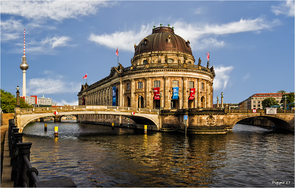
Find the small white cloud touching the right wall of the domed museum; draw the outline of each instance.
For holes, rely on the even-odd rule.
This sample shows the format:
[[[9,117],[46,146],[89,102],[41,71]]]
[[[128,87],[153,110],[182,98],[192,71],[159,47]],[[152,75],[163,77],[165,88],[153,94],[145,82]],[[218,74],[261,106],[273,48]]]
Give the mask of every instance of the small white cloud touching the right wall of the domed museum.
[[[230,72],[234,69],[234,67],[229,66],[229,67],[222,67],[218,66],[217,68],[214,67],[215,71],[215,78],[213,80],[213,87],[214,89],[220,89],[223,86],[223,90],[225,89],[227,82],[230,79]]]

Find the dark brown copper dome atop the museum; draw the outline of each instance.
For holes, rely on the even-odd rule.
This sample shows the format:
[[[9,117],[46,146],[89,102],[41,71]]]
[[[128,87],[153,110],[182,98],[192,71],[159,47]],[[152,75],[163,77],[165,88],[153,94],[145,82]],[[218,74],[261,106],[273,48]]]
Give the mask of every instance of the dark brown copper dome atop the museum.
[[[170,42],[168,42],[169,38],[171,38]],[[142,39],[135,48],[134,56],[152,51],[176,51],[192,55],[189,41],[186,42],[182,37],[174,34],[174,29],[170,27],[154,28],[152,34]]]

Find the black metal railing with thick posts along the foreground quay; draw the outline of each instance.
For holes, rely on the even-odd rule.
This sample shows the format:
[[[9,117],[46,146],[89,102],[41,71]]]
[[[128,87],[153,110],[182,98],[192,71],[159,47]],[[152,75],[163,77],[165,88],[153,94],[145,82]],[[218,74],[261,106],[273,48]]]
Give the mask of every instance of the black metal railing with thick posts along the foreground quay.
[[[14,119],[9,120],[8,143],[9,156],[11,157],[10,166],[11,181],[13,187],[77,187],[70,178],[62,178],[48,181],[40,181],[38,170],[30,163],[31,142],[22,142],[24,133],[19,133]]]

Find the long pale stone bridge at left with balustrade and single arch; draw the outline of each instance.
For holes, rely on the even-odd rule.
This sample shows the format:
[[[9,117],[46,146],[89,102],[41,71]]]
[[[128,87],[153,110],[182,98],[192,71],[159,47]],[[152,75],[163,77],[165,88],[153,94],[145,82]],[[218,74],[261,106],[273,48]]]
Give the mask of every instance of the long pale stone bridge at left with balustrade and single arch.
[[[55,115],[54,112],[58,114]],[[159,110],[147,108],[130,108],[121,106],[60,106],[44,108],[15,108],[17,128],[22,132],[24,127],[38,118],[53,116],[60,119],[65,115],[102,114],[124,116],[132,119],[137,124],[155,125],[160,130]],[[131,113],[135,114],[132,115]]]

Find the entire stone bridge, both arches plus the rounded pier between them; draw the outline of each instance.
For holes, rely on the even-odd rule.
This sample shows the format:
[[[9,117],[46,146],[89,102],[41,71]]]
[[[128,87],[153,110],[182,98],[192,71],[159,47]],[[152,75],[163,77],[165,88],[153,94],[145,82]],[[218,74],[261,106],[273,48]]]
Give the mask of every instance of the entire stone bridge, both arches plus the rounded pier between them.
[[[55,115],[54,112],[58,114]],[[16,125],[22,132],[24,127],[38,118],[53,116],[59,119],[65,115],[101,114],[124,116],[137,125],[155,125],[158,131],[184,130],[183,115],[188,115],[186,127],[191,133],[226,133],[240,120],[250,117],[264,117],[272,121],[277,128],[294,131],[294,110],[279,110],[277,114],[266,114],[265,109],[226,110],[220,108],[188,108],[178,110],[154,110],[120,106],[61,106],[44,108],[16,108]],[[132,112],[135,114],[132,115]],[[137,126],[140,128],[141,126]],[[154,126],[153,126],[154,127]],[[218,131],[214,132],[212,130]],[[153,129],[155,130],[155,129]],[[205,131],[204,131],[205,130]],[[221,130],[221,131],[220,131]]]

